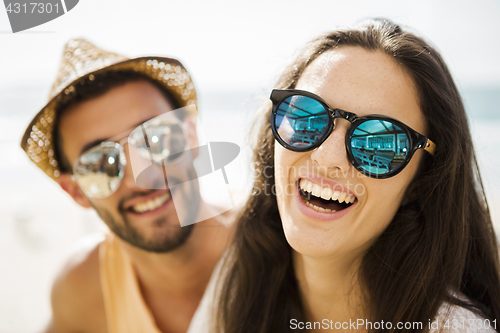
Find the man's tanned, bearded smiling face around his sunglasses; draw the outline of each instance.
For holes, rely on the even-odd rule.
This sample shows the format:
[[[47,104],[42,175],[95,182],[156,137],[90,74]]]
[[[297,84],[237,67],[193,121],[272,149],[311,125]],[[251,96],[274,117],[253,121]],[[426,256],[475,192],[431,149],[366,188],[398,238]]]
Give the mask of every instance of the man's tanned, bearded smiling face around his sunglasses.
[[[174,112],[169,112],[172,110],[153,84],[145,80],[126,83],[78,103],[61,115],[62,150],[73,165],[92,143],[117,136],[166,112],[164,117],[175,117]],[[116,192],[103,199],[83,197],[83,200],[128,243],[147,251],[171,251],[186,241],[194,225],[180,227],[169,189],[148,190],[136,185],[129,147],[124,146],[129,162]],[[75,188],[75,191],[81,190]]]

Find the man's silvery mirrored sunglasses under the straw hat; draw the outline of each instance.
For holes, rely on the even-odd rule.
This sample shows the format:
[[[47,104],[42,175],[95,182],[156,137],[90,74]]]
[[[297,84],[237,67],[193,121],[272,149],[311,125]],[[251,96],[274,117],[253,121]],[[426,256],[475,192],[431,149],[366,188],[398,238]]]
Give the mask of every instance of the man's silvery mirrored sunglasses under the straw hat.
[[[73,179],[87,196],[105,198],[118,189],[127,165],[123,148],[127,142],[129,156],[130,150],[135,149],[137,158],[159,164],[175,163],[188,147],[183,123],[164,116],[106,140],[85,151],[73,166]]]

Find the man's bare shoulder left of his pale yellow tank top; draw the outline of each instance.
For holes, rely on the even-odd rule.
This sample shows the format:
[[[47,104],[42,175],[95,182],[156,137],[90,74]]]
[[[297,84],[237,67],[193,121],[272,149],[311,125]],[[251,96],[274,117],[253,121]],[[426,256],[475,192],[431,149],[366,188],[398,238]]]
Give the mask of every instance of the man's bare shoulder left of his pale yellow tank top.
[[[48,332],[106,332],[99,278],[103,237],[79,242],[52,287],[52,322]]]

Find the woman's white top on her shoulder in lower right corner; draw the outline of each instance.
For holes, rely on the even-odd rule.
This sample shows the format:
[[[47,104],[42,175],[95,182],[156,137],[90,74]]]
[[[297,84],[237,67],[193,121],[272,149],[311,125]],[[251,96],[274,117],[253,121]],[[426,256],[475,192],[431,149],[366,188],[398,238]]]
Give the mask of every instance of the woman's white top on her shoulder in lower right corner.
[[[495,327],[498,325],[469,309],[449,303],[439,308],[433,323],[435,325],[430,333],[496,333]]]

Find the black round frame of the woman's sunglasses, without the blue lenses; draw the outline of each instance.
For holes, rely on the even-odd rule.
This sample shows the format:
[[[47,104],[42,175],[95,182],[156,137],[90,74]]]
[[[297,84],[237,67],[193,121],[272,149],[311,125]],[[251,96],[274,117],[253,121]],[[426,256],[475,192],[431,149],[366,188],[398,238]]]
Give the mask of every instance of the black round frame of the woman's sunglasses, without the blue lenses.
[[[300,147],[298,148],[298,147],[293,147],[293,146],[289,145],[280,137],[280,135],[278,134],[278,130],[276,128],[275,119],[276,119],[276,115],[278,113],[278,108],[285,99],[287,99],[288,97],[291,97],[291,96],[305,96],[305,97],[312,98],[315,101],[319,102],[325,108],[325,111],[328,111],[327,113],[330,115],[330,117],[328,117],[328,125],[327,125],[328,128],[327,128],[326,132],[323,134],[323,137],[321,138],[321,140],[318,140],[318,142],[316,142],[313,145],[306,147],[306,148],[300,148]],[[413,154],[415,153],[415,151],[417,151],[417,149],[423,148],[425,151],[429,152],[431,155],[434,155],[434,153],[435,153],[436,145],[429,138],[418,133],[417,131],[412,129],[410,126],[400,122],[399,120],[385,116],[385,115],[371,114],[371,115],[359,117],[355,113],[345,111],[342,109],[338,109],[338,108],[332,108],[330,105],[328,105],[328,103],[325,100],[323,100],[318,95],[315,95],[309,91],[298,90],[298,89],[273,89],[273,91],[271,92],[270,99],[273,103],[272,112],[271,112],[271,129],[273,131],[274,138],[284,148],[291,150],[291,151],[308,152],[308,151],[311,151],[311,150],[318,148],[319,146],[321,146],[323,144],[323,142],[326,141],[326,139],[328,139],[330,134],[335,129],[334,120],[336,118],[345,119],[345,120],[349,121],[351,123],[351,126],[347,130],[346,137],[345,137],[345,147],[346,147],[347,157],[348,157],[349,161],[351,162],[352,166],[356,170],[361,172],[363,175],[371,177],[371,178],[385,179],[385,178],[390,178],[390,177],[397,175],[406,167],[406,165],[408,165],[411,158],[413,157]],[[356,162],[356,160],[354,158],[354,154],[352,153],[351,144],[350,144],[351,139],[352,139],[352,134],[356,130],[356,128],[358,128],[359,125],[361,125],[362,123],[364,123],[365,121],[368,121],[368,120],[382,120],[382,121],[391,122],[392,124],[401,128],[405,132],[406,136],[408,137],[410,150],[407,153],[403,163],[401,163],[397,169],[389,171],[385,174],[375,174],[375,173],[366,171],[358,162]]]

